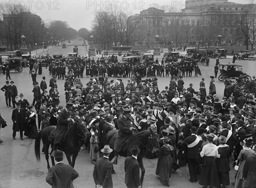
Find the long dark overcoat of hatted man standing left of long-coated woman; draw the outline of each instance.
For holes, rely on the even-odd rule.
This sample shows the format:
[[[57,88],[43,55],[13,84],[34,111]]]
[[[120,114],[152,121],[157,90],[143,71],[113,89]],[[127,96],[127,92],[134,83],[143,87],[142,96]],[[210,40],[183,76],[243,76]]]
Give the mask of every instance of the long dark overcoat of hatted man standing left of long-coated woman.
[[[20,130],[25,131],[24,123],[26,118],[26,111],[23,108],[20,108],[20,113],[18,109],[12,111],[12,130],[19,132]],[[16,121],[16,123],[15,123]]]

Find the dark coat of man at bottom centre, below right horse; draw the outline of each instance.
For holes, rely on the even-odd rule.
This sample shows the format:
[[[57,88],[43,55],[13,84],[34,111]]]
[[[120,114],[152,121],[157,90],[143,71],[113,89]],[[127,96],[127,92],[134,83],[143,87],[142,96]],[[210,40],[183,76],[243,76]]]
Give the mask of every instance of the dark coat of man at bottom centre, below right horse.
[[[125,159],[125,184],[131,188],[140,186],[140,165],[132,156]]]

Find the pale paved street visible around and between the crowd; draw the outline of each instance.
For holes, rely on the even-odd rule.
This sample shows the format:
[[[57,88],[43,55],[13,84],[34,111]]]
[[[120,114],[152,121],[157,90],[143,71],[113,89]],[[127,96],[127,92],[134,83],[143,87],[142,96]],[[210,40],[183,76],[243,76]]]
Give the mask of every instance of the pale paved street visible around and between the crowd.
[[[73,47],[78,45],[79,55],[85,56],[85,50],[81,46],[82,41],[75,40],[71,41],[71,43],[66,43],[67,48],[62,49],[61,44],[56,48],[48,51],[50,56],[52,53],[60,52],[65,57],[67,53],[73,52]],[[42,54],[47,54],[47,51],[44,51]],[[100,56],[99,56],[100,57]],[[98,58],[98,57],[96,57]],[[121,58],[121,57],[119,57]],[[156,57],[155,57],[156,58]],[[158,57],[158,59],[162,59],[162,57]],[[221,59],[220,63],[232,63],[232,59]],[[251,76],[256,74],[256,62],[248,61],[248,60],[237,60],[237,64],[243,65],[244,71],[247,71]],[[193,88],[195,91],[199,89],[199,82],[201,78],[205,78],[207,93],[209,92],[209,81],[210,76],[214,75],[214,66],[215,59],[210,59],[209,67],[200,66],[202,76],[201,77],[184,77],[185,85],[184,87],[189,87],[189,83],[194,84]],[[66,69],[67,70],[67,69]],[[194,71],[193,74],[194,75]],[[41,78],[45,76],[46,82],[49,86],[49,71],[48,68],[45,69],[43,67],[43,74],[38,75],[37,81],[41,82]],[[33,93],[32,93],[32,78],[29,75],[29,68],[23,69],[23,72],[20,74],[16,74],[13,71],[11,72],[11,78],[15,82],[14,84],[17,86],[18,94],[23,93],[24,98],[26,98],[29,103],[32,103]],[[82,83],[85,85],[90,78],[81,78]],[[145,79],[145,78],[144,78]],[[3,87],[6,81],[6,75],[0,75],[0,87]],[[109,79],[111,80],[111,79]],[[116,80],[116,79],[114,79]],[[128,78],[123,78],[123,83],[127,83]],[[158,77],[158,87],[159,90],[163,90],[165,86],[169,86],[169,77]],[[64,96],[64,80],[57,80],[58,91],[60,92],[60,105],[65,105],[65,96]],[[223,91],[224,91],[224,83],[218,81],[218,78],[215,79],[216,91],[218,96],[222,99]],[[47,88],[49,91],[49,88]],[[18,99],[17,99],[18,100]],[[5,97],[3,91],[0,91],[0,105],[1,105],[1,115],[7,121],[7,127],[1,129],[0,137],[4,141],[0,145],[0,187],[1,188],[35,188],[35,187],[50,187],[45,181],[45,177],[47,175],[47,163],[44,158],[44,155],[41,153],[41,163],[38,163],[35,158],[34,153],[34,142],[35,140],[24,138],[24,140],[20,140],[17,136],[17,140],[12,140],[12,109],[6,107]],[[18,135],[18,134],[17,134]],[[114,169],[117,174],[113,175],[113,185],[114,187],[125,187],[124,183],[124,157],[119,157],[118,165],[114,165]],[[68,164],[66,157],[64,157],[64,163]],[[145,179],[143,187],[163,187],[160,183],[159,178],[155,175],[155,169],[157,165],[157,158],[155,159],[146,159],[144,158],[143,163],[145,165]],[[74,181],[75,187],[86,187],[93,188],[95,184],[93,182],[93,167],[94,165],[90,162],[89,154],[87,150],[79,152],[79,155],[76,160],[75,169],[79,173],[79,177]],[[197,188],[201,187],[198,182],[191,183],[188,181],[189,173],[188,167],[183,167],[177,170],[174,174],[172,174],[172,178],[170,181],[170,187],[175,188]],[[234,171],[230,171],[230,182],[234,182]],[[232,188],[233,185],[227,186],[227,188]]]

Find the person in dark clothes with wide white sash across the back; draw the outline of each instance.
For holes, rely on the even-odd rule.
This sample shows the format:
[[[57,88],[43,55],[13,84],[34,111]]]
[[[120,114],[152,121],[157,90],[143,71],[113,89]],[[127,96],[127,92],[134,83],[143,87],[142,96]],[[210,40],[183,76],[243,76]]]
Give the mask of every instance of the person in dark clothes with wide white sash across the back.
[[[198,174],[198,154],[199,154],[199,149],[202,144],[202,140],[197,137],[197,128],[195,126],[192,126],[190,128],[191,131],[191,136],[186,137],[183,142],[181,142],[180,146],[185,146],[187,147],[186,151],[186,158],[187,158],[187,163],[189,166],[189,176],[190,182],[197,182],[197,174]]]

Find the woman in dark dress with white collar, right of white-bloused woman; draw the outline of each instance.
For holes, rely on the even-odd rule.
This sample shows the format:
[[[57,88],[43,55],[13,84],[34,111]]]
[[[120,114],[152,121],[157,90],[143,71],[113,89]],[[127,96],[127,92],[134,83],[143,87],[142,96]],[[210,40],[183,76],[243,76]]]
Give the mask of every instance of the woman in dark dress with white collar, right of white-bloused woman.
[[[227,138],[224,136],[218,137],[218,140],[220,142],[220,145],[218,145],[218,158],[216,158],[216,166],[218,170],[218,180],[219,185],[222,184],[222,187],[225,188],[225,186],[230,185],[230,178],[229,178],[229,171],[230,171],[230,165],[229,165],[229,146],[226,144]]]

